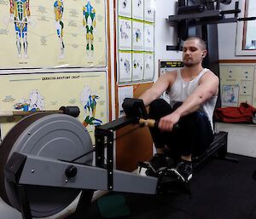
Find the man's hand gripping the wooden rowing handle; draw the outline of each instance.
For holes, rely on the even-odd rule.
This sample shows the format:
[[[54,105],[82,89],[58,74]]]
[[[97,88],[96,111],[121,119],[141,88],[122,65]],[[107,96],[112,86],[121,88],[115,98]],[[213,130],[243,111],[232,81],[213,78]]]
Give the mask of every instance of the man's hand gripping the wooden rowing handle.
[[[158,128],[161,131],[172,131],[174,124],[177,124],[180,115],[177,112],[172,112],[165,117],[160,118]]]

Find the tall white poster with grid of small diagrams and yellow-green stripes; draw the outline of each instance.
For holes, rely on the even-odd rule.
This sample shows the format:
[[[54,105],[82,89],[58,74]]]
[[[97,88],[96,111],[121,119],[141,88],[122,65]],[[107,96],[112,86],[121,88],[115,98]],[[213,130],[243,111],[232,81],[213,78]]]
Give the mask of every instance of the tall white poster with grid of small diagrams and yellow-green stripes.
[[[119,84],[154,78],[154,0],[118,1]]]

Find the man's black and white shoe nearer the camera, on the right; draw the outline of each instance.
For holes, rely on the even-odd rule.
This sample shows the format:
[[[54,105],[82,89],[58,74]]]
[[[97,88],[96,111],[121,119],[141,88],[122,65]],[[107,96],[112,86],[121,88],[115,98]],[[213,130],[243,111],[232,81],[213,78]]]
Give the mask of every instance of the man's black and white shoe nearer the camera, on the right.
[[[170,169],[178,179],[189,182],[192,178],[192,162],[181,160],[175,168]]]

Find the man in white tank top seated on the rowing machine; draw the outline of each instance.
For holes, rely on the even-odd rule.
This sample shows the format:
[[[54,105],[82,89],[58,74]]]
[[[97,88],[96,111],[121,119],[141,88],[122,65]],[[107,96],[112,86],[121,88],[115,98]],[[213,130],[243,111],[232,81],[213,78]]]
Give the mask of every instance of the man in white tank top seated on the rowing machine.
[[[206,43],[200,37],[189,37],[183,43],[184,67],[160,76],[140,96],[149,106],[149,118],[159,121],[158,129],[150,130],[157,153],[148,164],[154,173],[167,166],[183,182],[192,177],[192,156],[203,153],[213,140],[212,114],[218,97],[218,77],[202,67],[206,55]],[[158,99],[165,91],[170,104]],[[173,129],[177,123],[178,129]],[[178,162],[171,168],[168,156],[173,154]]]

